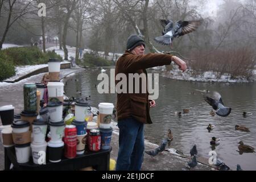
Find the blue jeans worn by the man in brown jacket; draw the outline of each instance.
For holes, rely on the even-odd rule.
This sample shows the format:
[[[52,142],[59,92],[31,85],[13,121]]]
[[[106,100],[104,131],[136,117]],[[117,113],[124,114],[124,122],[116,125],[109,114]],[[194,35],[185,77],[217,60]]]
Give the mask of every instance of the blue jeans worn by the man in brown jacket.
[[[144,124],[135,118],[118,121],[119,151],[116,171],[141,170],[144,154]]]

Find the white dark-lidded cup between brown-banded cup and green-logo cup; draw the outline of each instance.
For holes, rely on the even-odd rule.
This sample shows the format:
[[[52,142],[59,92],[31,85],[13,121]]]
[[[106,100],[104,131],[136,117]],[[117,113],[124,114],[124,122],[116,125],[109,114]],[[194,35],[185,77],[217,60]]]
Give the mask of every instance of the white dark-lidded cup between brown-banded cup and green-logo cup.
[[[46,140],[47,122],[35,120],[32,123],[33,144],[44,143]]]

